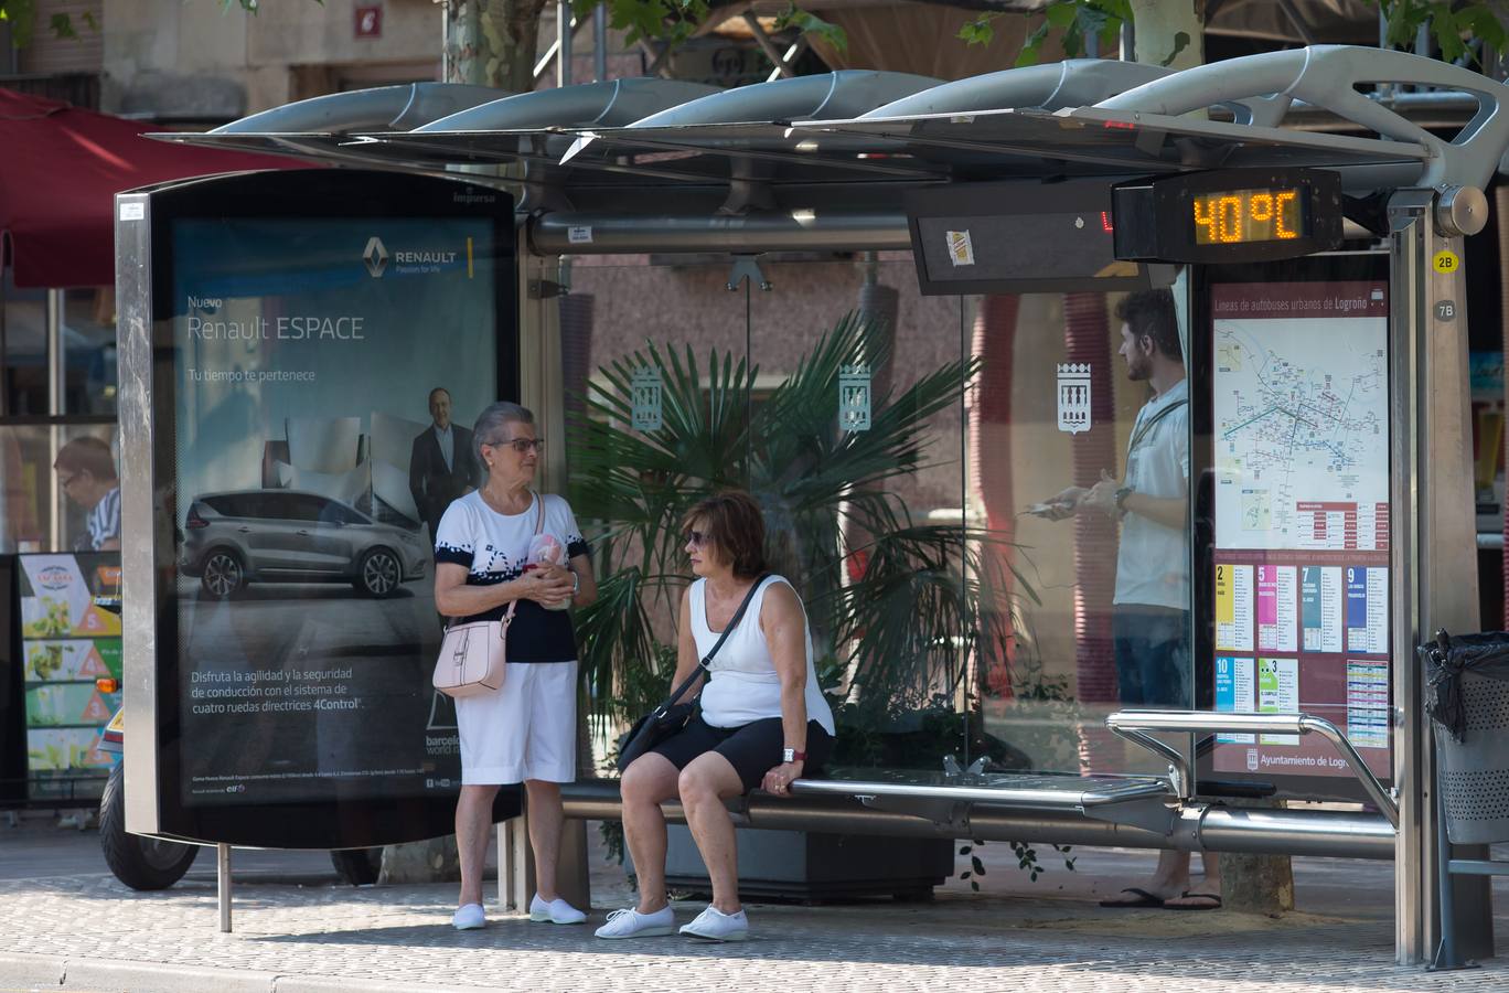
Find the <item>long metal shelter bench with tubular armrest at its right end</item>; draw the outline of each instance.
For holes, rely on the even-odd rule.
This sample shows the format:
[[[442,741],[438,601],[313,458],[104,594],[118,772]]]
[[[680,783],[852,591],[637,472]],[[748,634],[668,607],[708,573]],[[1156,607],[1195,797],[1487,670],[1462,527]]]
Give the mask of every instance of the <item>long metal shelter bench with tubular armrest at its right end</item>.
[[[1168,774],[991,773],[981,764],[964,770],[948,759],[937,773],[833,768],[824,779],[795,780],[789,797],[754,791],[727,806],[736,827],[761,830],[1394,857],[1399,818],[1394,797],[1329,721],[1305,714],[1121,711],[1108,717],[1106,726],[1168,759]],[[1319,733],[1348,759],[1379,813],[1228,807],[1219,800],[1195,798],[1188,756],[1153,738],[1154,732]],[[566,783],[561,798],[567,819],[623,815],[616,779]],[[667,801],[661,807],[667,821],[685,824],[681,803]],[[521,829],[513,829],[512,842],[519,853],[524,851]],[[584,880],[582,874],[582,886]]]

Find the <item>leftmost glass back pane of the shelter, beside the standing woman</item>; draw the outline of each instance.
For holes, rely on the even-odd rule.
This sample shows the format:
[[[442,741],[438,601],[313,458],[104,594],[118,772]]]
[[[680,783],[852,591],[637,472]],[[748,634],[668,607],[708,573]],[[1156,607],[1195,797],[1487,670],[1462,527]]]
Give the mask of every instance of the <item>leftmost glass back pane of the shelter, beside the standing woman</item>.
[[[560,299],[569,496],[599,607],[578,619],[596,753],[664,699],[682,593],[682,515],[748,483],[748,323],[726,257],[582,257]]]

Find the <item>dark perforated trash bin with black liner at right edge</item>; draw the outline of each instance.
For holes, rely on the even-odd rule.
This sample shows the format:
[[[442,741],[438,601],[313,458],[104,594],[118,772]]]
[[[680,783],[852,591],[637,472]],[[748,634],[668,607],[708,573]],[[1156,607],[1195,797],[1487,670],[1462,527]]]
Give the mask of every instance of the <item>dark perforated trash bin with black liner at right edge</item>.
[[[1421,644],[1437,788],[1455,845],[1509,841],[1509,632]]]

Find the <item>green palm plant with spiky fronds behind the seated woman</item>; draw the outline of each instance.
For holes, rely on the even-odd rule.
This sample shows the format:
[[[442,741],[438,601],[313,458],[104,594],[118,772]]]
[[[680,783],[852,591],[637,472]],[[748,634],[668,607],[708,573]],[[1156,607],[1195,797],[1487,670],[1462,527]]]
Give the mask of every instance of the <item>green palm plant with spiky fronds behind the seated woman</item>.
[[[1000,638],[1002,613],[981,610],[1007,587],[997,540],[963,524],[914,521],[890,492],[931,460],[930,418],[961,401],[976,361],[948,362],[871,403],[871,427],[837,427],[842,367],[889,359],[889,335],[862,314],[824,332],[758,406],[758,370],[712,350],[656,344],[599,370],[572,432],[572,506],[602,524],[593,536],[601,596],[578,622],[582,672],[599,711],[628,717],[653,700],[625,693],[664,687],[646,672],[673,664],[664,644],[681,590],[691,583],[681,521],[729,486],[761,503],[771,566],[795,583],[819,655],[837,658],[848,709],[875,724],[949,694],[976,646]],[[631,432],[631,377],[659,373],[662,424]],[[703,373],[706,368],[706,373]],[[1020,575],[1017,592],[1034,596]],[[831,669],[831,667],[830,667]]]

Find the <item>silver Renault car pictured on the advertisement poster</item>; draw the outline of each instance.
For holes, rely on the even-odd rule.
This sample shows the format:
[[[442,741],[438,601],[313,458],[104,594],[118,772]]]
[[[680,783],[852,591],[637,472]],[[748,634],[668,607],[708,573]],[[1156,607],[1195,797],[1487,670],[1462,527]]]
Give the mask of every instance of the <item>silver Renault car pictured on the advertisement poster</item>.
[[[189,506],[178,557],[178,569],[213,599],[249,583],[350,583],[364,596],[392,596],[423,580],[429,563],[424,531],[291,489],[201,493]]]

